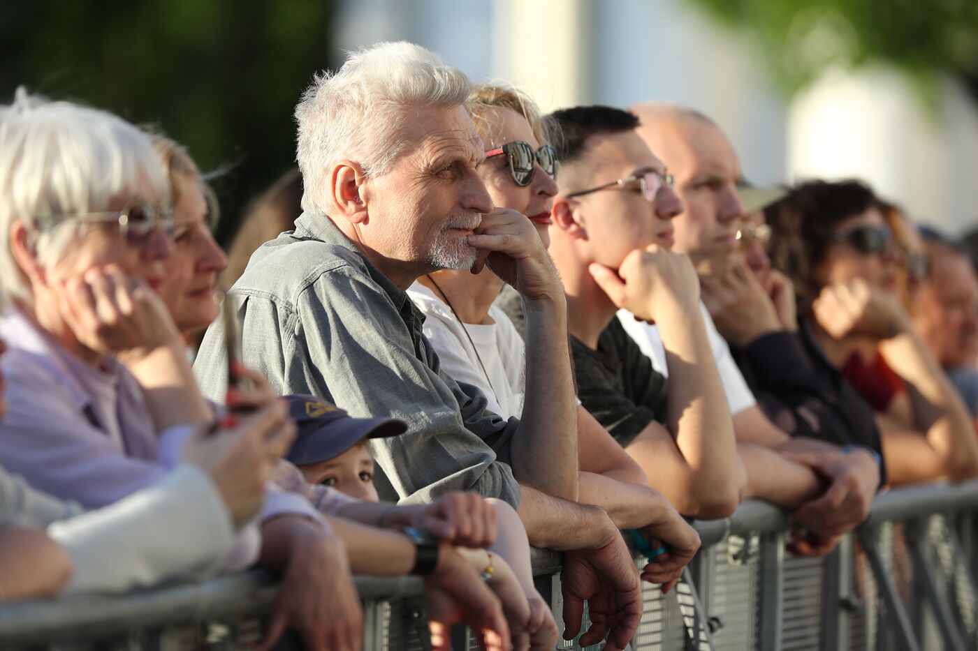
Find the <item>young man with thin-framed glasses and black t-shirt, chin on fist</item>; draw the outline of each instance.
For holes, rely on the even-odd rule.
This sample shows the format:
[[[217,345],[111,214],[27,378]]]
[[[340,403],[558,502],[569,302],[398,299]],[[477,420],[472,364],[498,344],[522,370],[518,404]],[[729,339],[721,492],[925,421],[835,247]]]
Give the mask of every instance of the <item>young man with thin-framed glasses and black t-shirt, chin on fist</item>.
[[[608,107],[560,110],[550,118],[562,134],[550,250],[567,292],[584,407],[686,515],[723,517],[741,497],[796,503],[814,494],[814,474],[787,461],[788,476],[777,483],[746,481],[695,272],[689,258],[669,250],[672,219],[683,204],[669,172],[636,133],[638,119]],[[512,301],[507,307],[518,314]],[[620,308],[662,329],[673,370],[668,386],[615,320]]]

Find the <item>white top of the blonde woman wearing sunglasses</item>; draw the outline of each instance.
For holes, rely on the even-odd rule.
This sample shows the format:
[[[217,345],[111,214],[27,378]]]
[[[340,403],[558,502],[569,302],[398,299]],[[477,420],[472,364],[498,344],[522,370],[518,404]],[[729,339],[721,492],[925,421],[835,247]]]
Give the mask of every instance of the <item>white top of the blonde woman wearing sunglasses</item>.
[[[504,418],[519,416],[526,365],[523,340],[510,318],[493,305],[485,324],[463,324],[422,283],[408,287],[408,295],[424,315],[422,331],[438,353],[442,370],[457,382],[478,387],[489,401],[490,412]]]

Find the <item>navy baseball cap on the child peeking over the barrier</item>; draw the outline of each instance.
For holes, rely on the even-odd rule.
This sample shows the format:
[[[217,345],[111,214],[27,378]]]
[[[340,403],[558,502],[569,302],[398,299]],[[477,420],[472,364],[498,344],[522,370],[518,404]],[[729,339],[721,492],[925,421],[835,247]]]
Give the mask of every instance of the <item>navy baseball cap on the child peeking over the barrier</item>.
[[[344,452],[364,439],[397,436],[408,424],[396,418],[354,418],[315,396],[286,396],[289,416],[295,421],[295,441],[286,458],[296,465],[319,463]]]

